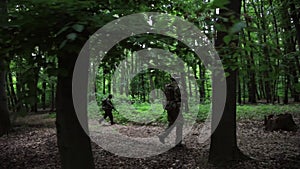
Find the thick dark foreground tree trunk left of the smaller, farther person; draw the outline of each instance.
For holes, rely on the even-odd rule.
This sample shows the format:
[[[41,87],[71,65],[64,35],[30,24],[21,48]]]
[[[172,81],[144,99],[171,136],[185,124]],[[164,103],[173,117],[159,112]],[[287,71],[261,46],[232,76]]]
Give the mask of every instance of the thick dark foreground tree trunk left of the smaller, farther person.
[[[77,119],[72,98],[72,77],[76,58],[76,53],[64,53],[58,60],[59,69],[66,70],[67,75],[58,75],[56,94],[57,143],[62,168],[93,169],[94,163],[90,138],[84,132]],[[84,81],[86,78],[82,77],[82,80]],[[84,104],[86,100],[83,100],[82,102]]]

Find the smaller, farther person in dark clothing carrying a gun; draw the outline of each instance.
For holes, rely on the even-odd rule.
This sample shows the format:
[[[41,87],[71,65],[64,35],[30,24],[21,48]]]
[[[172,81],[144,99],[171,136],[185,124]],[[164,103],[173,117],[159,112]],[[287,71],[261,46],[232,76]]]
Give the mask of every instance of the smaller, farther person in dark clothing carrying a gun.
[[[103,118],[101,118],[99,120],[99,123],[102,123],[102,121],[104,121],[107,116],[109,117],[110,119],[110,124],[111,125],[114,125],[114,117],[113,117],[113,114],[112,114],[112,110],[115,109],[114,105],[112,104],[111,102],[111,99],[113,98],[113,95],[108,95],[108,97],[104,100],[102,100],[102,109],[104,110],[104,116]]]

